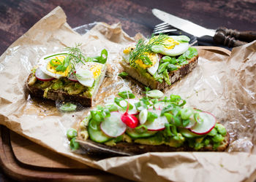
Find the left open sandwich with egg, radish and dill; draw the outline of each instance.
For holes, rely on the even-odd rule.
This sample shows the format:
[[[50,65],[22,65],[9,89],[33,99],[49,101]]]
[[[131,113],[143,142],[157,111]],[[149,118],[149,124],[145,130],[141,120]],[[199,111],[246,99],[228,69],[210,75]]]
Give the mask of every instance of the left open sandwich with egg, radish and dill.
[[[32,96],[91,106],[105,77],[107,50],[89,58],[77,47],[43,56],[27,79]]]

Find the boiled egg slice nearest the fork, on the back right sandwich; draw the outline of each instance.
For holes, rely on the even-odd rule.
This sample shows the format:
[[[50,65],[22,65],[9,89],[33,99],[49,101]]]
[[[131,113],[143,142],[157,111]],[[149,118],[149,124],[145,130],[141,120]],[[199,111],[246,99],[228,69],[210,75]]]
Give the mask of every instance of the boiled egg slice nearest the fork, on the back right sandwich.
[[[182,55],[189,49],[189,37],[169,36],[162,44],[152,47],[152,50],[162,55]]]

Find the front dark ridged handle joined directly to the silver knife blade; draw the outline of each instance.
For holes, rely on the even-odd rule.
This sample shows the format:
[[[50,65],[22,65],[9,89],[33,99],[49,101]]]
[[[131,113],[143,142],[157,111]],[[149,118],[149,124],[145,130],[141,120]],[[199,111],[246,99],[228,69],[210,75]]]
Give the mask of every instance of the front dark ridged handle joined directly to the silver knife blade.
[[[226,36],[223,31],[217,31],[214,35],[214,42],[227,47],[238,47],[247,44],[245,41],[238,41],[235,37]]]

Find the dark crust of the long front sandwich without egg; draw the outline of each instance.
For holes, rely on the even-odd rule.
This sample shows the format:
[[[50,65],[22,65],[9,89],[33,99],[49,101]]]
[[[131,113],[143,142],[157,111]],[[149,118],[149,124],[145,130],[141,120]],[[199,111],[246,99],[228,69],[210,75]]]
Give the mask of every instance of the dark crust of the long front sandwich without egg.
[[[213,146],[207,146],[200,150],[195,150],[189,146],[171,147],[167,145],[145,145],[140,143],[127,143],[120,142],[116,146],[106,146],[105,144],[96,143],[91,140],[78,140],[80,146],[91,154],[110,154],[110,155],[135,155],[143,154],[146,152],[163,152],[163,151],[225,151],[230,143],[230,135],[227,133],[225,140],[222,141],[217,149],[213,149]],[[97,147],[94,147],[97,146]]]

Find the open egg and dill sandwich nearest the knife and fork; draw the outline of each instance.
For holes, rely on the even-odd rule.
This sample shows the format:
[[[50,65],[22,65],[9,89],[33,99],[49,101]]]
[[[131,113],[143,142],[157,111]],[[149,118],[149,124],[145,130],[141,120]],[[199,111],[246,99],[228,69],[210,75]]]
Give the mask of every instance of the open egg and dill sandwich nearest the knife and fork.
[[[187,36],[160,34],[140,39],[122,52],[121,65],[138,82],[163,90],[197,66],[197,50],[189,47]]]

